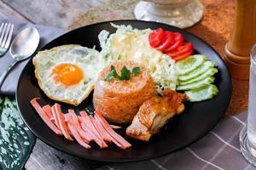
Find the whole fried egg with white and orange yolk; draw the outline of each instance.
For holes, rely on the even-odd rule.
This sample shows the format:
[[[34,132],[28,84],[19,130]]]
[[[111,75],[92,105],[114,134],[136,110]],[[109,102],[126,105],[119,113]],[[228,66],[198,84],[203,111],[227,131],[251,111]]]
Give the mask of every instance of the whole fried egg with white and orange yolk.
[[[62,45],[38,52],[32,59],[39,87],[50,99],[79,105],[94,88],[105,66],[95,49]]]

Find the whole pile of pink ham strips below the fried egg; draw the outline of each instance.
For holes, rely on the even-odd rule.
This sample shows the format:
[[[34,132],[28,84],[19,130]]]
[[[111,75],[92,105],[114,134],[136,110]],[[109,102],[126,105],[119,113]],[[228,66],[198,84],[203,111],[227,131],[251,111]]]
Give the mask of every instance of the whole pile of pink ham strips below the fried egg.
[[[101,112],[96,111],[95,116],[88,116],[85,111],[80,111],[81,116],[77,116],[74,110],[68,110],[67,114],[63,114],[61,105],[57,103],[52,107],[41,107],[37,98],[32,99],[30,103],[54,133],[64,135],[71,141],[74,138],[86,149],[91,148],[90,141],[96,142],[101,148],[108,148],[106,142],[113,142],[123,150],[131,147],[131,144],[113,131],[113,128],[121,127],[109,125]]]

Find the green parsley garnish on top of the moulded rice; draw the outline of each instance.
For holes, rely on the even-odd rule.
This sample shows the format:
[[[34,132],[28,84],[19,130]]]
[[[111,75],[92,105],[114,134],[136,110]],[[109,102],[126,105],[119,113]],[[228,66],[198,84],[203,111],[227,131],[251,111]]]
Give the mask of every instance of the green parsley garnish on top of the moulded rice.
[[[129,71],[127,67],[124,65],[121,70],[121,76],[115,71],[114,66],[110,66],[110,72],[108,76],[105,78],[105,81],[110,81],[112,78],[117,78],[119,80],[129,80],[132,75],[137,75],[140,72],[139,67],[134,67],[132,71]]]

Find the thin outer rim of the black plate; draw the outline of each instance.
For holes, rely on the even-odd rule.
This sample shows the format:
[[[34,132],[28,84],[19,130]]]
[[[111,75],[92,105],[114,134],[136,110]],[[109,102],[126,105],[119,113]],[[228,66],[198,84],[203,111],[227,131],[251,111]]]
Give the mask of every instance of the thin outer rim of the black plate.
[[[55,37],[54,39],[50,40],[49,42],[45,43],[44,46],[42,48],[38,48],[38,50],[32,54],[31,58],[28,60],[28,62],[26,63],[26,65],[24,66],[24,68],[22,69],[22,71],[20,72],[20,77],[18,79],[18,84],[16,86],[16,91],[15,91],[15,100],[16,100],[16,104],[17,104],[17,109],[19,111],[19,114],[20,114],[20,117],[22,119],[23,122],[25,122],[26,124],[26,127],[28,127],[32,133],[38,138],[40,139],[41,141],[44,142],[44,144],[48,144],[50,147],[53,147],[54,149],[56,150],[60,150],[64,153],[67,153],[68,155],[70,156],[76,156],[76,157],[81,157],[81,158],[84,158],[84,159],[87,159],[87,160],[92,160],[92,161],[105,161],[105,162],[131,162],[131,161],[146,161],[146,160],[149,160],[149,159],[154,159],[154,158],[157,158],[157,157],[161,157],[161,156],[166,156],[168,154],[172,154],[172,153],[175,153],[177,152],[177,150],[183,150],[184,148],[186,148],[187,146],[189,146],[190,144],[194,144],[195,142],[197,142],[199,139],[202,139],[203,137],[205,137],[207,135],[207,133],[209,133],[212,128],[216,127],[218,125],[218,123],[221,121],[222,117],[224,116],[224,113],[220,114],[220,116],[218,116],[218,122],[214,123],[212,125],[212,127],[210,128],[209,127],[209,130],[207,130],[205,133],[199,135],[200,137],[196,138],[195,140],[193,140],[192,142],[190,142],[189,144],[185,144],[183,145],[183,147],[179,147],[175,150],[172,150],[172,151],[166,151],[165,153],[161,153],[161,154],[157,154],[157,155],[154,155],[154,156],[143,156],[142,158],[126,158],[125,160],[120,160],[120,159],[116,159],[116,160],[113,160],[113,159],[97,159],[96,157],[90,157],[90,156],[79,156],[78,154],[76,154],[75,152],[73,152],[72,150],[64,150],[61,148],[61,146],[58,146],[58,145],[55,145],[55,144],[51,144],[50,142],[48,142],[47,139],[45,139],[44,137],[42,137],[41,135],[39,135],[38,133],[34,132],[34,130],[32,129],[32,127],[29,127],[26,120],[24,119],[24,117],[22,116],[21,112],[20,112],[20,105],[19,105],[19,102],[18,102],[18,89],[20,87],[20,82],[21,82],[21,77],[22,75],[24,74],[25,70],[26,70],[26,67],[27,65],[29,65],[31,62],[32,62],[32,58],[35,56],[35,54],[38,53],[38,51],[44,49],[47,45],[49,45],[50,42],[53,42],[55,41],[57,38],[59,37],[62,37],[62,36],[65,36],[67,35],[68,33],[72,32],[72,31],[77,31],[79,29],[82,29],[84,27],[89,27],[89,26],[97,26],[97,25],[102,25],[102,24],[110,24],[112,22],[138,22],[138,23],[151,23],[151,24],[160,24],[160,25],[163,25],[163,26],[170,26],[170,27],[173,27],[175,29],[177,29],[178,31],[182,31],[182,32],[187,32],[189,33],[189,36],[192,36],[192,37],[195,37],[199,40],[201,40],[201,42],[204,42],[205,44],[207,44],[207,47],[208,48],[211,48],[211,50],[218,56],[218,59],[221,60],[221,62],[224,64],[224,69],[227,71],[227,74],[229,75],[229,77],[225,77],[225,78],[228,78],[227,82],[229,82],[230,84],[230,90],[229,90],[229,96],[228,96],[228,105],[225,106],[224,108],[224,113],[225,111],[228,110],[229,106],[230,106],[230,100],[231,100],[231,96],[232,96],[232,79],[231,79],[231,76],[230,76],[230,70],[228,69],[227,65],[225,64],[224,62],[224,59],[220,56],[220,54],[218,54],[217,50],[215,50],[214,48],[212,48],[212,46],[206,42],[205,40],[203,40],[201,37],[198,37],[197,35],[195,35],[194,33],[191,33],[190,31],[187,31],[187,30],[184,30],[184,29],[181,29],[181,28],[178,28],[176,26],[171,26],[171,25],[167,25],[165,23],[161,23],[161,22],[154,22],[154,21],[144,21],[144,20],[107,20],[107,21],[102,21],[102,22],[97,22],[97,23],[94,23],[94,24],[90,24],[90,25],[86,25],[86,26],[80,26],[79,28],[76,28],[74,30],[71,30],[71,31],[66,31],[64,32],[63,34],[61,34],[60,36],[58,37]],[[121,151],[121,150],[120,150]]]

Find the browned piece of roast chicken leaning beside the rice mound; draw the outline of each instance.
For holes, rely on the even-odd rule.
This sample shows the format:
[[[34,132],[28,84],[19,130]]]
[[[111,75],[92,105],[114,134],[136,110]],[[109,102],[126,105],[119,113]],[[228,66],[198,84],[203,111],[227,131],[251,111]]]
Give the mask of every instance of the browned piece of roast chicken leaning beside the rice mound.
[[[134,116],[131,125],[126,128],[126,134],[134,139],[148,141],[172,116],[184,110],[183,102],[186,99],[186,94],[167,89],[163,97],[155,96],[146,100]]]

